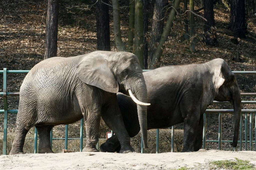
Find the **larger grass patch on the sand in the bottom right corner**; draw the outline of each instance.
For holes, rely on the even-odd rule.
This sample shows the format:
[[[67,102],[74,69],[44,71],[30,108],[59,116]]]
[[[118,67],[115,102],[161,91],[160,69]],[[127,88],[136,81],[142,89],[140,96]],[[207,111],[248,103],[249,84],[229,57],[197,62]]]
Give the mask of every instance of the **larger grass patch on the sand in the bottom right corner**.
[[[250,164],[247,160],[241,160],[235,158],[236,161],[222,160],[222,161],[212,161],[211,164],[217,166],[218,168],[224,169],[247,169],[255,170],[254,165]]]

